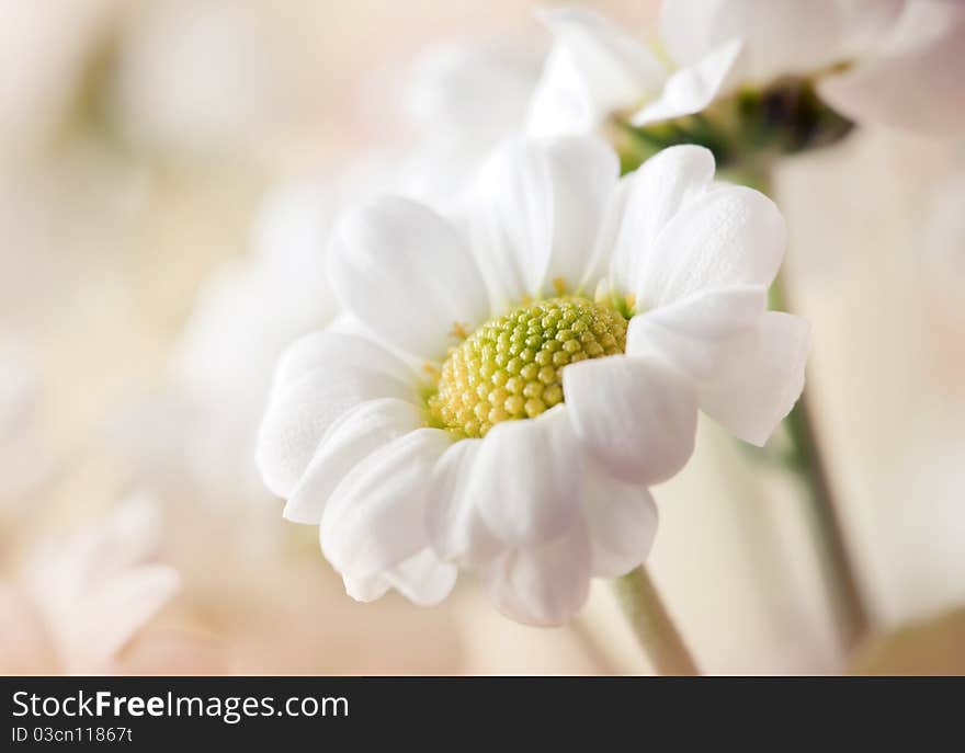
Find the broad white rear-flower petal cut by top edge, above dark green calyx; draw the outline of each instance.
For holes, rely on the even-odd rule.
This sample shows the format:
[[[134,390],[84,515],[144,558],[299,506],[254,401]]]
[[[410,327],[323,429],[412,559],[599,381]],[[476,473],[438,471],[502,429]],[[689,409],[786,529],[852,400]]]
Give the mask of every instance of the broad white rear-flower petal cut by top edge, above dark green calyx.
[[[660,36],[678,65],[693,65],[735,37],[741,78],[767,83],[848,60],[889,23],[902,0],[669,0]]]

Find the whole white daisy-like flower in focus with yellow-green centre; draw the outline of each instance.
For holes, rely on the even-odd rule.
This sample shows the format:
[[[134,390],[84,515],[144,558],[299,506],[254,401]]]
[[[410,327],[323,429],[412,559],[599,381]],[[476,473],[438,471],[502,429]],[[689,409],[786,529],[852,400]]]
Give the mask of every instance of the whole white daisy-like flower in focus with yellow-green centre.
[[[765,311],[780,213],[713,173],[699,147],[620,179],[595,140],[510,141],[455,220],[397,197],[343,218],[331,285],[367,335],[288,350],[258,461],[350,594],[432,604],[461,567],[507,615],[563,623],[646,557],[646,487],[685,464],[699,408],[767,440],[808,328]]]

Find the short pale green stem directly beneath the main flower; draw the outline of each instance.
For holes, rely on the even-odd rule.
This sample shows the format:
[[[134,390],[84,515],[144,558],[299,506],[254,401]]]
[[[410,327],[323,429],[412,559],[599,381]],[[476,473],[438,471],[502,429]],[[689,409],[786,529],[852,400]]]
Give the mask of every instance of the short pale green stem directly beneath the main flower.
[[[645,566],[613,581],[613,590],[634,635],[659,674],[700,674]]]

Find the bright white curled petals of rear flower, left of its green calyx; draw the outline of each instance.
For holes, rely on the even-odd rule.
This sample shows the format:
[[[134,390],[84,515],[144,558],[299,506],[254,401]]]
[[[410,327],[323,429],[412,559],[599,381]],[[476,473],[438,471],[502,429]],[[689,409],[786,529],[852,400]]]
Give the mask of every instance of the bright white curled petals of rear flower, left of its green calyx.
[[[606,19],[583,9],[540,14],[555,44],[529,115],[534,136],[588,134],[614,113],[637,126],[692,115],[725,89],[740,53],[733,37],[686,65],[668,65]]]

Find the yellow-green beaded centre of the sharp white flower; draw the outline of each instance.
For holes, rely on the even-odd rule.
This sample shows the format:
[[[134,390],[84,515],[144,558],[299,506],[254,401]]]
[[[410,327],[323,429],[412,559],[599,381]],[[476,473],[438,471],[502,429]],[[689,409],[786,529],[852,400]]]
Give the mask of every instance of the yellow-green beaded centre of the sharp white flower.
[[[481,437],[493,424],[533,419],[563,402],[563,368],[623,353],[626,320],[610,306],[564,296],[490,319],[453,349],[438,391],[433,425]]]

